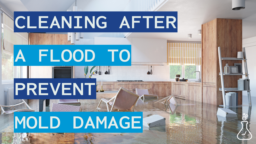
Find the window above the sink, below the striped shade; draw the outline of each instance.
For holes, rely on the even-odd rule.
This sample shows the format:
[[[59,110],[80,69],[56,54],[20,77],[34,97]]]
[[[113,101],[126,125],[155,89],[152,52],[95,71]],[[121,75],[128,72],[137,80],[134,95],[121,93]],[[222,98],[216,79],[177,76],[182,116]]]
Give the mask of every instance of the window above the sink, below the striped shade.
[[[176,75],[180,75],[180,79],[188,79],[188,81],[198,81],[199,74],[195,71],[201,71],[201,66],[196,65],[170,65],[170,80],[174,81]],[[201,75],[201,74],[200,74]],[[201,76],[200,76],[201,78]]]

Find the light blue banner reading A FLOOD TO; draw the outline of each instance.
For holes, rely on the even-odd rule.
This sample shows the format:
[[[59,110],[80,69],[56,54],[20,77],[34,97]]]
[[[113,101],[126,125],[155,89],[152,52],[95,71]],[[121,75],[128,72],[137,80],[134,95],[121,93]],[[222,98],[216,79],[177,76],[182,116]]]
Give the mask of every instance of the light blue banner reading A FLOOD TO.
[[[131,66],[131,45],[14,45],[14,66]]]

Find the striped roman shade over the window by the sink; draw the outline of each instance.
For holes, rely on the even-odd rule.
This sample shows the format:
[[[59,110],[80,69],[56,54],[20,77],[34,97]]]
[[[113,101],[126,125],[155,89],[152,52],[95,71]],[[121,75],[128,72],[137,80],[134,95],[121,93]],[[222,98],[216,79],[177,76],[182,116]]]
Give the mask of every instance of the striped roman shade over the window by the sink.
[[[169,65],[201,65],[201,44],[167,43],[167,63]]]

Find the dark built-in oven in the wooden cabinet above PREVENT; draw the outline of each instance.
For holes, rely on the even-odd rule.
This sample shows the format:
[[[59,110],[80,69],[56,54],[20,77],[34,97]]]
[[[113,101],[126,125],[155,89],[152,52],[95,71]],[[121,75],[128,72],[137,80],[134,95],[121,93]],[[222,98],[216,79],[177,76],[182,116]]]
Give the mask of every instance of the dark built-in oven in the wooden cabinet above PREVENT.
[[[52,66],[52,78],[73,78],[73,66]]]

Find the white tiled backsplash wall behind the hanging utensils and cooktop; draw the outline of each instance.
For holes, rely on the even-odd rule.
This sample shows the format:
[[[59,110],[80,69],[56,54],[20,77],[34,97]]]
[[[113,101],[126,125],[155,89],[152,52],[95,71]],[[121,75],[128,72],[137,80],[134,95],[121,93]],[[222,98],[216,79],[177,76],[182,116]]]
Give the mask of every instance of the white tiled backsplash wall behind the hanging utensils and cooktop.
[[[80,39],[76,41],[76,45],[94,44],[94,39]],[[144,64],[144,63],[136,63]],[[92,66],[89,66],[89,72]],[[97,66],[94,70],[99,69]],[[148,75],[147,65],[132,65],[132,66],[110,66],[110,74],[105,74],[108,71],[108,66],[101,66],[101,75],[93,75],[92,78],[96,78],[97,81],[117,81],[117,80],[143,80],[143,81],[169,81],[169,66],[152,66],[152,75]],[[149,67],[149,71],[151,67]],[[89,72],[86,76],[89,78]],[[99,70],[98,70],[99,72]],[[84,66],[75,66],[75,78],[85,78]]]

